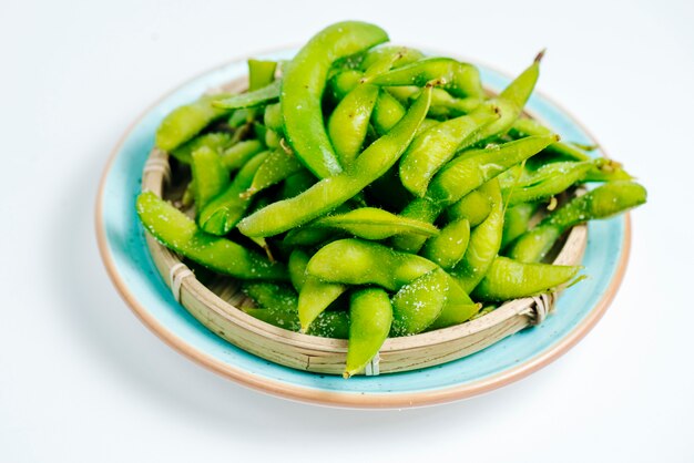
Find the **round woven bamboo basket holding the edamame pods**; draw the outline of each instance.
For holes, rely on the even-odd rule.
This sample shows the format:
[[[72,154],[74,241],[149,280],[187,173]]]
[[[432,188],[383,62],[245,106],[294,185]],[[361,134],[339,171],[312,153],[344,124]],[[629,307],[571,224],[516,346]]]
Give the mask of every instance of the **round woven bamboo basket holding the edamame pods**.
[[[245,86],[245,79],[241,79],[208,93],[243,91]],[[169,155],[157,148],[152,150],[143,171],[142,189],[171,198],[176,189],[171,181]],[[152,259],[175,299],[207,329],[241,349],[286,367],[316,373],[343,373],[346,340],[288,331],[245,313],[238,307],[248,301],[238,281],[218,278],[205,286],[176,254],[145,235]],[[586,244],[588,227],[574,227],[553,263],[580,264]],[[375,375],[433,367],[478,352],[524,328],[541,323],[554,309],[557,297],[558,292],[553,292],[514,299],[458,326],[389,338],[365,373]]]

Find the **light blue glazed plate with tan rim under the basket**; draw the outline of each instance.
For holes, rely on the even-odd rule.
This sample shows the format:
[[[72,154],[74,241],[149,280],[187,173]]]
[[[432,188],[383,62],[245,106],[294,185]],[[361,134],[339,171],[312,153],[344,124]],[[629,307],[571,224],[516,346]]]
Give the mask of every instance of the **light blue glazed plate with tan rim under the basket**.
[[[258,58],[278,60],[293,54],[287,50]],[[492,91],[510,81],[486,66],[480,71]],[[463,399],[523,378],[574,346],[606,310],[629,257],[627,215],[589,225],[583,266],[590,278],[564,291],[554,313],[541,326],[446,364],[344,380],[268,362],[218,338],[172,297],[151,260],[134,203],[160,121],[205,90],[245,73],[245,61],[232,62],[193,79],[147,110],[115,147],[96,199],[99,247],[115,287],[135,315],[180,352],[245,385],[289,399],[341,407],[402,408]],[[564,140],[596,144],[565,111],[538,93],[527,110]]]

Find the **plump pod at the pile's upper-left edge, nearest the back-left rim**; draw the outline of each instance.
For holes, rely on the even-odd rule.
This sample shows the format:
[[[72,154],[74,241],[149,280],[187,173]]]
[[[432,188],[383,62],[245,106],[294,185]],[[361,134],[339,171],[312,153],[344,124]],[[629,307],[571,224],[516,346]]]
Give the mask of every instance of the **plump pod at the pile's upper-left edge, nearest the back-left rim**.
[[[223,95],[203,95],[197,101],[173,110],[156,130],[154,143],[171,152],[197,135],[211,122],[226,115],[229,110],[217,107],[213,102]]]

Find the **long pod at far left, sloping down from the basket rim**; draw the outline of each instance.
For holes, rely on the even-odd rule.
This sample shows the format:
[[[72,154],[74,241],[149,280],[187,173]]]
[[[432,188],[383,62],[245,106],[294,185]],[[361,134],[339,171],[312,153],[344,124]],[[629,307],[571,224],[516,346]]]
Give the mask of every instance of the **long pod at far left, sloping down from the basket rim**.
[[[287,279],[282,264],[271,264],[234,241],[207,235],[152,192],[137,196],[136,209],[140,220],[156,239],[204,267],[243,279]]]

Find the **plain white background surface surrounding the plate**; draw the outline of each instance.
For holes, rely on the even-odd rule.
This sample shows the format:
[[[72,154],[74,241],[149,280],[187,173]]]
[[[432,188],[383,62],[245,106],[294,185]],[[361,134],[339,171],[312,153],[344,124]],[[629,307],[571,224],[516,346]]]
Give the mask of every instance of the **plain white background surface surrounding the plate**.
[[[0,461],[694,461],[693,2],[19,3],[0,2]],[[616,300],[530,378],[417,410],[293,403],[181,357],[111,286],[94,195],[135,116],[347,18],[509,73],[547,47],[539,90],[647,186]]]

